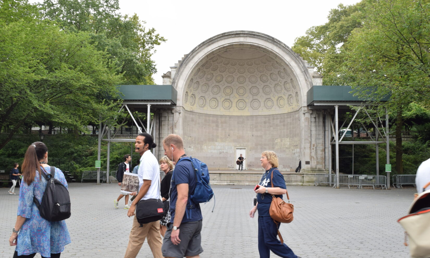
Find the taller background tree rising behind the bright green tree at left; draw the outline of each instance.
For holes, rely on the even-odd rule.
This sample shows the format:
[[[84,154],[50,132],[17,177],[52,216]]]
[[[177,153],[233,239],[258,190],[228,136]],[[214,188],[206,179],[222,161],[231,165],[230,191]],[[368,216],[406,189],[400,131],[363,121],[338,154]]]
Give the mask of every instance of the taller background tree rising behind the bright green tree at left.
[[[96,48],[111,55],[122,84],[154,84],[151,56],[166,40],[136,14],[121,15],[118,0],[45,0],[41,7],[44,17],[62,29],[88,32]]]

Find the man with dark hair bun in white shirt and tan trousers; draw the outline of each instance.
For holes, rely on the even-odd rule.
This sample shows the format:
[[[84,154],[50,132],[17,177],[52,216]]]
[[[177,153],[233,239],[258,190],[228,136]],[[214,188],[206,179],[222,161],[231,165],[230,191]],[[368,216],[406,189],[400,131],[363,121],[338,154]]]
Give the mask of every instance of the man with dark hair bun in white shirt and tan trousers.
[[[160,199],[160,166],[157,158],[151,153],[151,149],[155,147],[157,147],[157,144],[154,143],[151,135],[140,133],[136,137],[135,152],[141,155],[138,169],[139,193],[131,194],[136,195],[136,197],[127,214],[129,217],[135,215],[136,204],[140,200]],[[148,239],[147,242],[154,258],[163,258],[163,254],[161,253],[163,242],[160,234],[160,221],[146,223],[143,224],[143,227],[140,227],[136,216],[133,218],[129,245],[127,246],[124,258],[135,258],[146,238]]]

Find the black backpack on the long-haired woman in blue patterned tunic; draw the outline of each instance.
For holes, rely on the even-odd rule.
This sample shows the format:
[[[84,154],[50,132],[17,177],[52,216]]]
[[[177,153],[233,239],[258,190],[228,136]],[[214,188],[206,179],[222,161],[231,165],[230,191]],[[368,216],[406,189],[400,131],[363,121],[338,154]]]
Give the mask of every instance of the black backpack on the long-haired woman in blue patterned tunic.
[[[33,197],[40,216],[47,221],[62,221],[70,218],[69,191],[60,181],[54,178],[55,167],[51,166],[51,174],[46,174],[42,171],[40,173],[48,181],[42,197],[42,203],[39,203],[36,197]]]

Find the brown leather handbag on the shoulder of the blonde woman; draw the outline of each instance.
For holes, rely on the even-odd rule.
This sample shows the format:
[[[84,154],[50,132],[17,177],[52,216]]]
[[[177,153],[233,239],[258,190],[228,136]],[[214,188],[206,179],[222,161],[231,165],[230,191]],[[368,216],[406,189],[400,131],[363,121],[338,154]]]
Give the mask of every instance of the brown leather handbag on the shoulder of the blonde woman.
[[[272,183],[272,187],[273,187],[273,171],[270,177],[270,182]],[[270,214],[270,218],[273,218],[273,221],[275,221],[276,224],[278,224],[279,222],[290,223],[291,221],[293,221],[294,205],[290,203],[290,197],[288,196],[288,191],[287,191],[287,200],[288,200],[288,203],[286,203],[284,200],[282,200],[279,197],[275,197],[272,194],[272,203],[270,204],[269,214]],[[279,230],[278,230],[278,236],[281,243],[284,243],[284,240]]]

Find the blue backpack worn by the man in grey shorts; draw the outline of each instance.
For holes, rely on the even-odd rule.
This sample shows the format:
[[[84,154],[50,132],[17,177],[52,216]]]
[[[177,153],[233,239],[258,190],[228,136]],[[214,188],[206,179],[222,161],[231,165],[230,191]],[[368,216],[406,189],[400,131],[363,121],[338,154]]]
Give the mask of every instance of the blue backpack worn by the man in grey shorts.
[[[215,208],[215,196],[211,188],[211,184],[209,183],[208,166],[206,166],[204,162],[193,157],[183,157],[182,159],[191,161],[191,165],[193,166],[194,173],[196,175],[196,188],[194,188],[194,192],[190,194],[191,199],[188,201],[189,206],[192,206],[190,203],[191,200],[193,203],[207,203],[212,199],[212,197],[214,197]],[[214,211],[214,208],[212,208],[212,212]]]

